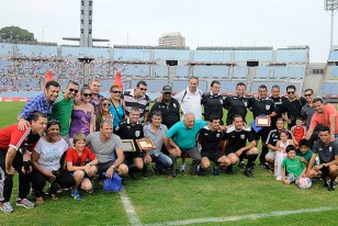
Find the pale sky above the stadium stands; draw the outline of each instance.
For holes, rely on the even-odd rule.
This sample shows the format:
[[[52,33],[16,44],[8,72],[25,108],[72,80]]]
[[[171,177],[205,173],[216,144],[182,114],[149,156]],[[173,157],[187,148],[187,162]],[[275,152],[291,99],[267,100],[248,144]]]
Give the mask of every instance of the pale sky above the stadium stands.
[[[181,32],[191,49],[308,45],[312,63],[326,61],[329,52],[324,0],[94,0],[93,11],[93,37],[109,38],[105,46],[157,45],[162,33]],[[38,41],[75,44],[61,38],[79,36],[80,0],[7,1],[0,27],[9,25],[27,29]]]

